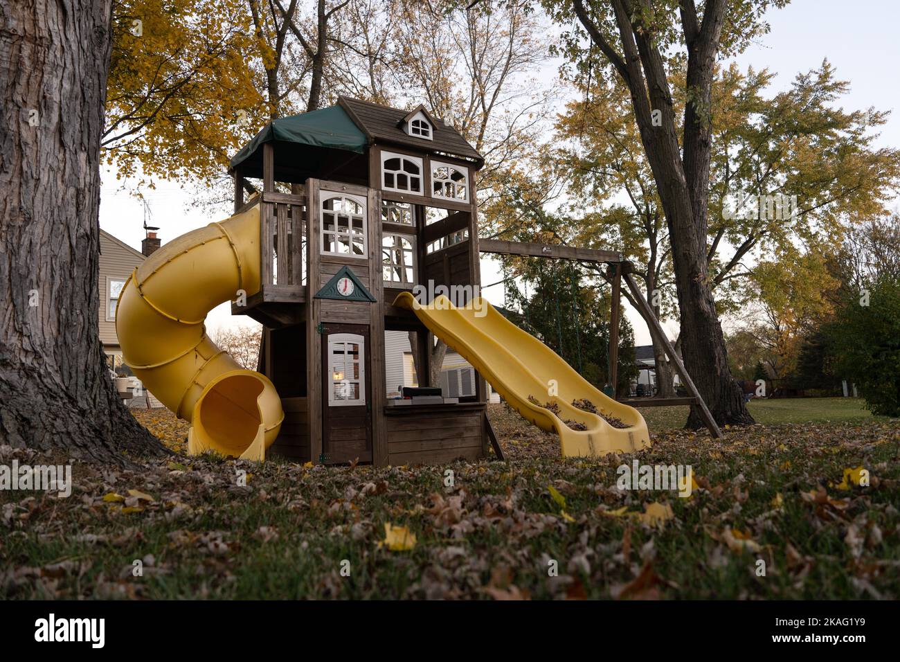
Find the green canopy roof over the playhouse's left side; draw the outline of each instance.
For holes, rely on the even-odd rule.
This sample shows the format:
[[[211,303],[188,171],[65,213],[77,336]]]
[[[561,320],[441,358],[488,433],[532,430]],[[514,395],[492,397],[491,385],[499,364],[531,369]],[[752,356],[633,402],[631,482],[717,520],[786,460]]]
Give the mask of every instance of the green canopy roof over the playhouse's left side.
[[[331,150],[365,153],[367,141],[363,131],[350,119],[339,105],[321,110],[281,117],[266,124],[252,141],[231,159],[231,168],[247,160],[259,146],[266,142],[284,141],[313,145]]]

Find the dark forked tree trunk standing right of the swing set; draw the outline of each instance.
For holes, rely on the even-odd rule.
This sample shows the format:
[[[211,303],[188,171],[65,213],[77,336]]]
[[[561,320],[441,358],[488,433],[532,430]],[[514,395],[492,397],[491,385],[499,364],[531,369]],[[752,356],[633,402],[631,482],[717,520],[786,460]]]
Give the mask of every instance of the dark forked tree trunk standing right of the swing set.
[[[681,317],[682,359],[698,391],[719,425],[748,424],[753,419],[740,387],[731,376],[725,336],[716,315],[707,274],[707,199],[709,191],[710,107],[726,0],[707,0],[702,23],[693,2],[680,3],[684,40],[688,47],[688,89],[694,98],[684,116],[684,154],[676,129],[674,104],[664,59],[646,16],[632,11],[626,0],[608,0],[624,57],[613,49],[585,8],[573,6],[591,40],[617,69],[631,93],[635,121],[669,226],[675,286]],[[660,113],[661,122],[653,122]],[[692,406],[689,427],[702,427]]]

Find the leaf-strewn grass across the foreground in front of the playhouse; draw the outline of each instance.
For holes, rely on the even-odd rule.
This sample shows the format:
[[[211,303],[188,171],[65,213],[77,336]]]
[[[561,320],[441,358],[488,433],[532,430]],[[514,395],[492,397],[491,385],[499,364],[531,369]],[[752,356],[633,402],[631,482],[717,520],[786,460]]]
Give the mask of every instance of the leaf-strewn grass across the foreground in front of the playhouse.
[[[0,598],[900,597],[898,421],[661,431],[635,456],[562,459],[503,405],[491,418],[508,462],[76,464],[67,499],[0,492]],[[0,449],[14,458],[40,461]],[[691,465],[699,488],[620,491],[633,458]],[[869,486],[843,480],[860,466]],[[671,519],[644,523],[652,503]],[[386,523],[415,545],[381,545]]]

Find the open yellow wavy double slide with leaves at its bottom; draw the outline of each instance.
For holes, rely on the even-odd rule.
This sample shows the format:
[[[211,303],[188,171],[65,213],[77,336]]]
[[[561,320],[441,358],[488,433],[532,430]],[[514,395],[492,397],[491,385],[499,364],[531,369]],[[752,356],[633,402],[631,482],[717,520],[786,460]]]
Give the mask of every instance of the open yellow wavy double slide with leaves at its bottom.
[[[423,306],[404,292],[394,305],[416,313],[528,421],[545,431],[556,431],[563,457],[598,457],[650,445],[641,413],[599,391],[553,349],[509,322],[489,302],[475,299],[457,308],[446,296],[438,295]],[[479,316],[479,312],[486,314]],[[603,416],[574,406],[575,400],[590,401],[599,413],[617,418],[627,427],[614,428]],[[543,404],[555,405],[556,413]],[[584,430],[575,430],[570,424]]]

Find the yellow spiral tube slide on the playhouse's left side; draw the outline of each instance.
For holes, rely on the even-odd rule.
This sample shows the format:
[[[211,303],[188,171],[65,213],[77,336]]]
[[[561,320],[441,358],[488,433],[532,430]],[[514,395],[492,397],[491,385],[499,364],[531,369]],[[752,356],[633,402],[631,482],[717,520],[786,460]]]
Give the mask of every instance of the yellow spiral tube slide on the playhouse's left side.
[[[191,423],[187,449],[263,460],[284,420],[266,376],[206,335],[203,320],[243,290],[259,290],[259,206],[187,232],[126,281],[116,307],[122,360],[144,387]]]

